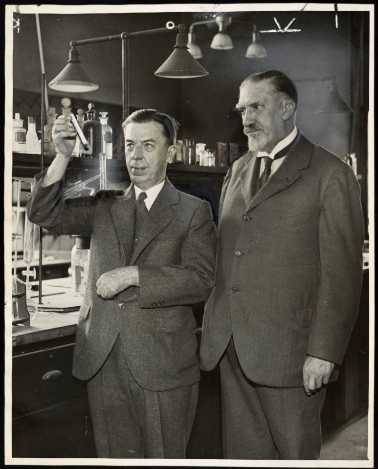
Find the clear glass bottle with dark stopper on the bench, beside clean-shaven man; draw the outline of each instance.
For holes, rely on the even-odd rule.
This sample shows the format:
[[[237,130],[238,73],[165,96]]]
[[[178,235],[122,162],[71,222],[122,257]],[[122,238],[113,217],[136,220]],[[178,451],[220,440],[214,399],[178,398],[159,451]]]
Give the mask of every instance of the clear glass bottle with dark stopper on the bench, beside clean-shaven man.
[[[72,294],[83,297],[87,286],[89,272],[90,238],[75,236],[75,245],[71,251]]]

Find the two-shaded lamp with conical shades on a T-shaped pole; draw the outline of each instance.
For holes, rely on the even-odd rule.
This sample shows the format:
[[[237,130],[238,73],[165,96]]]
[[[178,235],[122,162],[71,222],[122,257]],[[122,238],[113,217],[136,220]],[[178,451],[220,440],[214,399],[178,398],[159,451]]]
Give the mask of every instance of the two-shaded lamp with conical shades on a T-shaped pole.
[[[156,76],[166,78],[197,78],[208,75],[208,72],[188,53],[186,38],[183,33],[184,24],[175,26],[168,21],[165,28],[148,29],[132,33],[123,32],[114,36],[71,41],[69,59],[65,68],[48,84],[50,88],[68,93],[83,93],[98,89],[98,85],[91,82],[80,65],[79,54],[76,46],[103,43],[108,41],[122,41],[122,118],[129,115],[129,39],[134,36],[146,36],[169,30],[178,30],[174,52],[155,72]],[[179,50],[179,52],[178,52]]]

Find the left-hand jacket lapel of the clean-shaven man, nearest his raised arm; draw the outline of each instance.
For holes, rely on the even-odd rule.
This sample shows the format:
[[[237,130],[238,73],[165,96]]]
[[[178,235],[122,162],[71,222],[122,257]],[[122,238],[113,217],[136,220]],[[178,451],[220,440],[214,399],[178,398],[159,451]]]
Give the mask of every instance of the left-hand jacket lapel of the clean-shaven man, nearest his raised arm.
[[[111,216],[113,217],[124,261],[128,264],[133,254],[134,242],[135,192],[133,184],[126,189],[123,195],[116,197],[116,199],[111,207]]]

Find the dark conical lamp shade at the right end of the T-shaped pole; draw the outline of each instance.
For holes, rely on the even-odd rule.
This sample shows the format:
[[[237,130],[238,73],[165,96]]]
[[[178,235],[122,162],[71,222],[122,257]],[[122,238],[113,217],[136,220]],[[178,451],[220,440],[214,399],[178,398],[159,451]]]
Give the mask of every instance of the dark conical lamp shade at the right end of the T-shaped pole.
[[[178,33],[172,54],[155,72],[157,77],[163,78],[198,78],[208,74],[209,72],[190,55],[183,33]]]

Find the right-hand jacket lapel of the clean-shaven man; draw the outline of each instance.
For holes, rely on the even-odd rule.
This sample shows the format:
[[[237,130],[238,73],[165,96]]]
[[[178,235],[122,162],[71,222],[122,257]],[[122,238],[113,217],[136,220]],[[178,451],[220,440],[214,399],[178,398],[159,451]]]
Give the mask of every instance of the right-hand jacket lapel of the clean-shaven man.
[[[143,249],[175,218],[171,205],[178,204],[180,196],[177,189],[165,179],[165,184],[152,205],[144,222],[138,243],[134,246],[130,265],[133,265]]]

